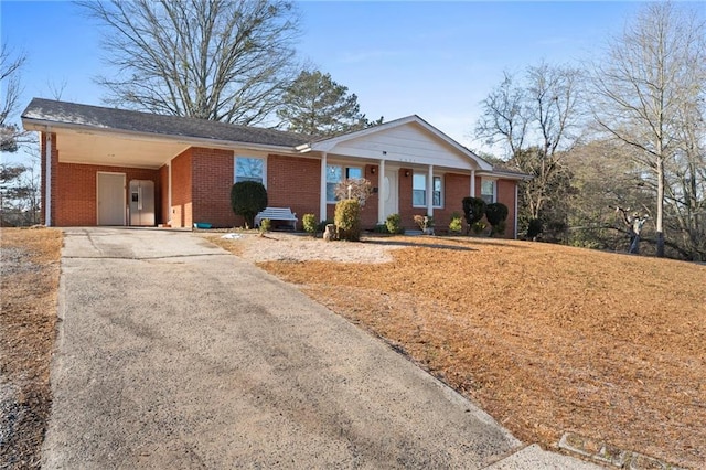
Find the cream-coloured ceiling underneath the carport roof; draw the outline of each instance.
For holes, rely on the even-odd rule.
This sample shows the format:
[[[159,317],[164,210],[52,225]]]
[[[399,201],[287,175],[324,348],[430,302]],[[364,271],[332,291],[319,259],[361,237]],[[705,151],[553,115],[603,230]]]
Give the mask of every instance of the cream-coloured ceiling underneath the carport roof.
[[[58,161],[158,169],[192,145],[147,136],[55,128]]]

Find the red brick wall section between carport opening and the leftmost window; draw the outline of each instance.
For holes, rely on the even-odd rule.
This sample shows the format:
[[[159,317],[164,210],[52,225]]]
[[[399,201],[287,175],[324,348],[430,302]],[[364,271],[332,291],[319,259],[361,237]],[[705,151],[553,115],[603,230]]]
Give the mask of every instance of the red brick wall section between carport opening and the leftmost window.
[[[193,222],[206,222],[214,227],[235,226],[231,209],[233,150],[199,147],[191,150]]]

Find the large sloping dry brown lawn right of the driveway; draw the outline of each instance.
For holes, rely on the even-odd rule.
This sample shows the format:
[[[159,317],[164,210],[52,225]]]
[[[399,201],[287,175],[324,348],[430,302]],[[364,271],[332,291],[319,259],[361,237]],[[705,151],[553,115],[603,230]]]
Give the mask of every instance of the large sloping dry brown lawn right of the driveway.
[[[410,245],[393,263],[259,265],[403,349],[524,441],[552,448],[574,431],[706,467],[706,266],[393,241]]]

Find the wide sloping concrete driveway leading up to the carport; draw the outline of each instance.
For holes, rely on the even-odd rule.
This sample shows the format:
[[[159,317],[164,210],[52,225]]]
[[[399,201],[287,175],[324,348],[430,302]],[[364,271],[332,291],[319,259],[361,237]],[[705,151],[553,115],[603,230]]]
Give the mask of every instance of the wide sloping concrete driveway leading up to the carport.
[[[191,233],[66,229],[60,317],[47,469],[592,468]]]

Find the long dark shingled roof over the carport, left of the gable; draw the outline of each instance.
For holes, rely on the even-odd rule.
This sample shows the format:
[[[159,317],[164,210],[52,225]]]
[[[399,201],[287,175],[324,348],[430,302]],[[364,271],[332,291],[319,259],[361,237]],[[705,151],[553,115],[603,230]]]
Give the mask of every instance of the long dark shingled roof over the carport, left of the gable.
[[[28,130],[44,130],[44,126],[92,128],[106,131],[126,131],[184,139],[193,138],[291,148],[311,140],[308,136],[282,130],[43,98],[32,99],[24,113],[22,113],[22,122]]]

